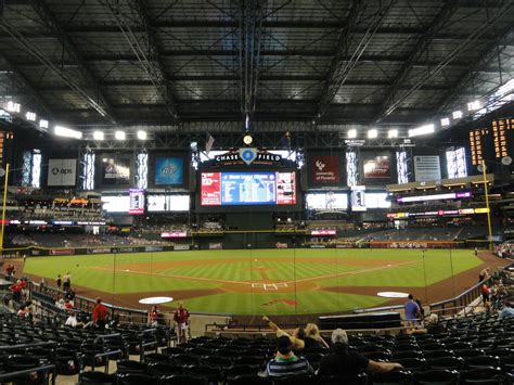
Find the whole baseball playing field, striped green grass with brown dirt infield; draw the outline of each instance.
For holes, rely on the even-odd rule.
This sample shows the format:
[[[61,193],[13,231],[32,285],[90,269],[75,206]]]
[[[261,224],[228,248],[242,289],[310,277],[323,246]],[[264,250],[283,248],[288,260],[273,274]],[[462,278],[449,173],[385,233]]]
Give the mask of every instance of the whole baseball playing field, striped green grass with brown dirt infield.
[[[381,306],[381,288],[422,295],[425,275],[429,286],[480,264],[472,251],[429,249],[423,264],[415,249],[300,248],[34,257],[24,272],[53,284],[69,271],[81,295],[123,306],[169,295],[191,311],[297,315]]]

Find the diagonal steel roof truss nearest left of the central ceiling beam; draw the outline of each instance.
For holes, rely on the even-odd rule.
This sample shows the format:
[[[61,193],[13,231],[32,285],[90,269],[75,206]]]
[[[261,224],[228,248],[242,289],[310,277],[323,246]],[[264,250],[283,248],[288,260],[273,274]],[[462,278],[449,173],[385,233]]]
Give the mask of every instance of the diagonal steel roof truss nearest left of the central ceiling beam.
[[[166,105],[166,108],[171,116],[172,123],[179,120],[177,108],[174,101],[174,94],[170,87],[170,81],[167,79],[165,66],[160,60],[158,51],[157,37],[150,26],[150,17],[144,8],[142,0],[128,0],[130,8],[136,12],[136,17],[144,30],[143,47],[134,35],[132,27],[127,22],[125,15],[119,9],[119,4],[113,0],[100,1],[108,7],[111,13],[116,20],[119,30],[123,33],[125,39],[129,43],[137,60],[140,62],[142,68],[147,74],[152,85],[155,87],[159,98]]]

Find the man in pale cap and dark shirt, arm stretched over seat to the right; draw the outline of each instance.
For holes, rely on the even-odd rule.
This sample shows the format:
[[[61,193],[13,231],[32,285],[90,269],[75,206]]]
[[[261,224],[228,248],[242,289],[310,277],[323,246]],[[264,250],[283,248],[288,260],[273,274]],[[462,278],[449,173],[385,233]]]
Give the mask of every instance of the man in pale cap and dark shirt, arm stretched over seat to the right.
[[[337,375],[350,380],[357,377],[363,371],[386,373],[396,369],[403,369],[398,362],[377,362],[370,360],[356,350],[349,350],[348,335],[343,329],[336,329],[332,332],[332,354],[324,356],[320,361],[319,375]]]

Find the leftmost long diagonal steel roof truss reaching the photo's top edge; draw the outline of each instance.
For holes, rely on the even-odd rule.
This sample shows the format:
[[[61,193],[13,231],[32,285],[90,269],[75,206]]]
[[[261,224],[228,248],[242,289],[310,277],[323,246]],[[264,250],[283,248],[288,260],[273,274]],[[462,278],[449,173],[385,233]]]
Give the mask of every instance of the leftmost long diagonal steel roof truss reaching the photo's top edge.
[[[115,123],[115,119],[111,114],[110,104],[105,95],[102,93],[93,73],[88,66],[88,63],[82,59],[80,52],[77,50],[72,39],[64,33],[62,26],[59,24],[59,21],[52,14],[44,0],[31,0],[31,5],[44,25],[57,38],[63,48],[63,52],[65,52],[65,55],[67,56],[67,60],[78,65],[78,69],[83,78],[85,84],[89,85],[91,91],[93,92],[92,95],[90,95],[86,90],[81,90],[79,93],[86,98],[88,103],[94,110],[97,110],[100,115],[107,118],[111,123]],[[64,76],[64,74],[62,75]],[[68,78],[67,81],[73,80]],[[81,89],[81,87],[79,88]]]

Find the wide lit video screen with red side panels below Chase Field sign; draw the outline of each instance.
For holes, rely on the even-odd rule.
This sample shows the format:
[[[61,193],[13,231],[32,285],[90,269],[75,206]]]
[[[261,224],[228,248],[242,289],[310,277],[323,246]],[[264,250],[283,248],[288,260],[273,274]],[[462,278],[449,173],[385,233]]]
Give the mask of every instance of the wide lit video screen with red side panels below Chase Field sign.
[[[295,204],[294,171],[202,172],[202,206]]]

